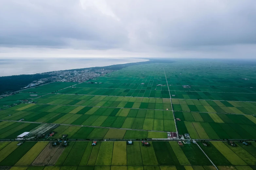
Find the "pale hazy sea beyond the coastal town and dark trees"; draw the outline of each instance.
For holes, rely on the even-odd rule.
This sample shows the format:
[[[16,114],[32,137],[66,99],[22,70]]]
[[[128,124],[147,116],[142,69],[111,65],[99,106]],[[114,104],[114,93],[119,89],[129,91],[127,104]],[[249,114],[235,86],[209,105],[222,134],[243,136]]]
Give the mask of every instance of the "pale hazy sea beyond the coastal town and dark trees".
[[[36,74],[58,70],[100,67],[148,61],[145,59],[54,58],[54,59],[0,59],[0,77]]]

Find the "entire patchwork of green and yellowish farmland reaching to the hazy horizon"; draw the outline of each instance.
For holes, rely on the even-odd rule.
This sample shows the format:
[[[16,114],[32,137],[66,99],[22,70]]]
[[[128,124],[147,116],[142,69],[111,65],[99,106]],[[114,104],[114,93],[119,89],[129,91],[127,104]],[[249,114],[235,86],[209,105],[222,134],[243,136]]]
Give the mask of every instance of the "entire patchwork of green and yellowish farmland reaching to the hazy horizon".
[[[0,99],[0,169],[256,169],[254,68],[208,64],[133,65]]]

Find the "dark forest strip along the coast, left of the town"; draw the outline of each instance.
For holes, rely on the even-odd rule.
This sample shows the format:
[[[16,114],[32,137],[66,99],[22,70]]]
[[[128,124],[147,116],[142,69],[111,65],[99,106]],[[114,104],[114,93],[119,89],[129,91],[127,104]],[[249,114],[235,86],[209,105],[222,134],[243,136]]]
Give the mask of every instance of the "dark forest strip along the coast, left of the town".
[[[29,83],[41,78],[47,78],[52,75],[48,74],[32,74],[0,77],[0,94],[5,92],[15,92],[26,87]]]

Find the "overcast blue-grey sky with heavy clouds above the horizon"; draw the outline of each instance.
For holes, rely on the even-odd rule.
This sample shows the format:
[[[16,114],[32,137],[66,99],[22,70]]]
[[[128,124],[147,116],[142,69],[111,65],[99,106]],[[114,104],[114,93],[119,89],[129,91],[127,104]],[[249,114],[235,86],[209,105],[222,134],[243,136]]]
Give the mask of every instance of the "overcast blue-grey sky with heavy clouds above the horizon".
[[[256,59],[256,0],[2,0],[0,57]]]

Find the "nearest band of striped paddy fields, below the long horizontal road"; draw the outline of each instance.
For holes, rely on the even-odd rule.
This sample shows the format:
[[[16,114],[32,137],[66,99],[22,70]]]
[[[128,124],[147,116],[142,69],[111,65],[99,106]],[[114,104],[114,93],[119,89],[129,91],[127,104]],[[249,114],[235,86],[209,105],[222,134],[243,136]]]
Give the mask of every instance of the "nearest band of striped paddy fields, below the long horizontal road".
[[[216,169],[199,146],[218,169],[255,169],[256,145],[231,147],[227,142],[212,141],[209,147],[201,142],[183,144],[177,141],[153,141],[150,147],[141,142],[127,145],[122,141],[97,142],[72,141],[63,148],[57,158],[43,159],[44,155],[57,150],[49,142],[0,142],[0,166],[12,169]],[[31,166],[32,165],[32,166]],[[40,167],[40,168],[39,168]]]

